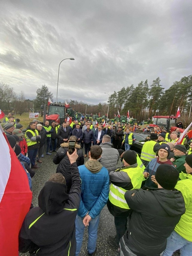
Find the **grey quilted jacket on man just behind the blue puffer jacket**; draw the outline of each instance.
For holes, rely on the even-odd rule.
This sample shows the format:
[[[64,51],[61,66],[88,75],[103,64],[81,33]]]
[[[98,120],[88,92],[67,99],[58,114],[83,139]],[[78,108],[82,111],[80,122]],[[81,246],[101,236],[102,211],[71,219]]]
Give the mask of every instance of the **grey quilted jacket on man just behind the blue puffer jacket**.
[[[111,147],[111,142],[101,143],[102,148],[101,158],[98,161],[107,168],[108,172],[115,171],[119,161],[119,152],[117,149]]]

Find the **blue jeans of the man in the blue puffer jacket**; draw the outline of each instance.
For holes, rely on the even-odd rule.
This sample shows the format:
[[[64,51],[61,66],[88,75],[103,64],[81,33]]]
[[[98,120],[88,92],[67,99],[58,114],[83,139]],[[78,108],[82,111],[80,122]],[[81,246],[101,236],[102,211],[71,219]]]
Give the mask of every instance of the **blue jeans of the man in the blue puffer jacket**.
[[[95,217],[94,219],[91,219],[91,221],[89,221],[88,245],[87,245],[88,253],[93,253],[96,249],[99,218],[100,218],[100,214],[97,217]],[[76,242],[77,242],[76,254],[75,254],[76,256],[78,256],[81,251],[81,245],[82,245],[82,241],[83,241],[83,234],[84,234],[85,226],[84,226],[82,220],[83,219],[80,218],[78,215],[76,216],[76,220],[75,220]]]

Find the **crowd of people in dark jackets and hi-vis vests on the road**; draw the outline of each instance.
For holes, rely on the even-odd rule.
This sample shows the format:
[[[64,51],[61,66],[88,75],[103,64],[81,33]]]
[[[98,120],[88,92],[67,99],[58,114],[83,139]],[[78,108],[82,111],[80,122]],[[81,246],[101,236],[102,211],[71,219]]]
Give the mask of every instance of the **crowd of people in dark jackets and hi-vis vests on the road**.
[[[34,119],[23,135],[22,124],[9,113],[1,126],[30,188],[44,152],[57,164],[38,207],[31,205],[22,224],[19,251],[77,256],[88,226],[87,253],[95,255],[101,210],[107,205],[116,228],[107,242],[118,255],[171,256],[178,249],[181,256],[192,255],[192,141],[186,136],[187,143],[176,145],[180,130],[170,134],[166,128],[146,127],[149,136],[139,156],[131,146],[134,133],[143,132],[140,125],[103,127],[90,120],[42,125]],[[70,140],[76,142],[71,155]]]

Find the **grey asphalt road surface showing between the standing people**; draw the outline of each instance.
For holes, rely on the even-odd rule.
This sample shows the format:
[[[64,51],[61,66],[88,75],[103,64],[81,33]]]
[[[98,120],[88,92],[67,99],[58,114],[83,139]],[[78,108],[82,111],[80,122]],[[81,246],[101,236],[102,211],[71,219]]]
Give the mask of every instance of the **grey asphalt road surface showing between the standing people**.
[[[53,152],[51,156],[45,155],[44,152],[44,158],[41,160],[43,161],[42,164],[38,164],[40,168],[34,169],[35,170],[35,176],[32,178],[32,192],[33,192],[33,204],[34,206],[38,206],[38,195],[41,191],[41,188],[44,186],[45,182],[49,179],[49,177],[56,172],[56,167],[52,162],[53,155],[55,153]],[[87,161],[88,158],[85,158],[85,161]],[[121,167],[122,162],[119,160],[119,163],[117,167]],[[97,252],[95,256],[117,256],[117,250],[116,248],[112,247],[107,243],[107,237],[108,235],[115,236],[115,224],[114,224],[114,217],[110,214],[110,212],[107,209],[107,206],[104,207],[104,209],[101,212],[101,218],[98,228],[98,239],[97,239]],[[85,228],[84,238],[83,238],[83,244],[81,248],[80,256],[87,255],[87,228]],[[28,253],[23,254],[19,253],[21,256],[27,256]],[[179,256],[180,254],[175,253],[174,256]]]

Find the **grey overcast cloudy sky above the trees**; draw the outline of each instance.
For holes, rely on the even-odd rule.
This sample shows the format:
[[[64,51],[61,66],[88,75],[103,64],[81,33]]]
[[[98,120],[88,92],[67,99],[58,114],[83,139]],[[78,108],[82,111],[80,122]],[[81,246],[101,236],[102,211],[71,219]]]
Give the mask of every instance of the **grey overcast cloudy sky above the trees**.
[[[26,98],[46,84],[58,101],[106,102],[157,77],[192,74],[189,0],[1,0],[0,79]]]

